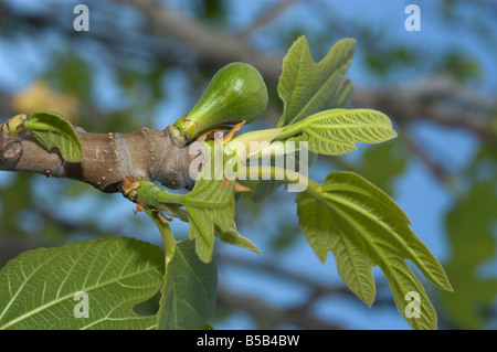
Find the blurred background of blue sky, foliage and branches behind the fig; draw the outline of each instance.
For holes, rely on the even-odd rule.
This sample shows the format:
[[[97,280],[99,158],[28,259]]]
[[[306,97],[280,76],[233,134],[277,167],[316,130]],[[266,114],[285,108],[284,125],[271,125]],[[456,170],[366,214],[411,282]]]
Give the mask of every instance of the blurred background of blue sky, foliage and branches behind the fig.
[[[409,3],[421,32],[408,32]],[[76,32],[73,9],[89,9]],[[441,329],[497,328],[497,3],[494,1],[0,1],[0,122],[51,109],[91,132],[162,129],[188,113],[232,61],[253,64],[282,105],[282,57],[306,35],[315,61],[341,38],[358,41],[353,105],[387,113],[400,137],[311,171],[352,170],[385,190],[441,259],[455,292],[426,285]],[[201,34],[203,36],[201,36]],[[200,39],[200,40],[199,40]],[[302,236],[294,194],[264,203],[245,194],[239,230],[262,255],[218,244],[214,327],[409,329],[381,275],[371,309],[343,287],[332,258],[320,265]],[[0,172],[0,265],[29,248],[109,235],[160,244],[119,194],[71,180]],[[173,224],[178,237],[183,224]],[[378,274],[378,273],[377,273]]]

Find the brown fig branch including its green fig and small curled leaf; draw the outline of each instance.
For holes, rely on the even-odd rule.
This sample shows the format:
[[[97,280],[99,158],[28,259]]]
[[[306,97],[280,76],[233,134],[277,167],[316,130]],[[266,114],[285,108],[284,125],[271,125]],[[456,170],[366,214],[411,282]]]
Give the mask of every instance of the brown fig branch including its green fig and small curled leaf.
[[[203,158],[191,142],[209,138],[223,124],[251,122],[266,105],[267,88],[258,71],[231,63],[214,75],[193,109],[165,130],[144,127],[133,134],[97,135],[73,127],[57,113],[40,110],[29,118],[21,114],[1,125],[0,171],[74,179],[106,193],[123,192],[127,179],[191,189],[190,167]]]

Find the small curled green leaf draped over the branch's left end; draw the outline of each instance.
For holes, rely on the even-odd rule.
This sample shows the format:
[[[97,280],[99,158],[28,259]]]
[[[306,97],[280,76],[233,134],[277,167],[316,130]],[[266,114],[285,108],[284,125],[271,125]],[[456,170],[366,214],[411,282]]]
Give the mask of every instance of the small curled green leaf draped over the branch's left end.
[[[56,147],[62,158],[68,162],[80,162],[83,159],[83,147],[74,127],[57,113],[40,110],[33,113],[24,124],[46,150]]]

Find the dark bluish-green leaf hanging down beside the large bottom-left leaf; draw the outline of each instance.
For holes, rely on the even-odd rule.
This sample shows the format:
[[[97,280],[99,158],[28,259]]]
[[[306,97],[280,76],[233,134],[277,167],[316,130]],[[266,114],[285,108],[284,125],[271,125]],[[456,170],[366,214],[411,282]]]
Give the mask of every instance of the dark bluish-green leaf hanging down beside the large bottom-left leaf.
[[[214,313],[218,269],[214,260],[199,259],[195,243],[177,243],[166,269],[165,287],[157,314],[159,329],[201,330],[209,327]]]

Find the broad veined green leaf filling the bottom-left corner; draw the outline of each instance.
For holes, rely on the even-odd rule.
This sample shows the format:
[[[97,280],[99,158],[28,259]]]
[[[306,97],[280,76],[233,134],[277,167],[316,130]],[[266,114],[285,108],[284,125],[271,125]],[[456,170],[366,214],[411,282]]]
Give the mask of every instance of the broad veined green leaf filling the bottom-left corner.
[[[152,329],[134,306],[162,284],[163,252],[129,237],[28,250],[0,271],[0,329]],[[88,318],[75,317],[77,292]]]

